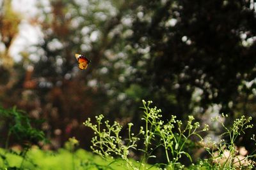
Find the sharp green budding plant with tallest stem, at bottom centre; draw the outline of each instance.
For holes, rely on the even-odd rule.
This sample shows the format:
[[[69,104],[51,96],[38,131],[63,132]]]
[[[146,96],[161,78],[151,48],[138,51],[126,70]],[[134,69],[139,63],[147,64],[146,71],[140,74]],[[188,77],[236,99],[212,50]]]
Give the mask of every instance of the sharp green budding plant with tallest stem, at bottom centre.
[[[188,117],[188,122],[183,125],[180,120],[176,120],[176,117],[172,115],[170,120],[164,122],[161,120],[161,110],[156,107],[151,108],[152,101],[143,101],[144,115],[143,122],[145,127],[140,127],[140,132],[137,135],[131,131],[132,123],[128,124],[128,136],[127,139],[122,139],[120,131],[122,126],[118,122],[114,122],[113,125],[109,125],[109,121],[106,120],[104,125],[106,129],[102,129],[103,115],[96,117],[97,124],[93,125],[90,118],[84,122],[84,125],[93,129],[95,137],[92,139],[93,152],[101,155],[104,158],[109,156],[118,156],[125,160],[128,169],[149,169],[146,166],[148,159],[156,158],[154,151],[158,148],[164,150],[164,156],[166,158],[161,164],[155,164],[157,167],[168,167],[169,169],[182,169],[184,165],[180,163],[182,155],[191,160],[184,147],[190,142],[191,136],[197,136],[200,140],[200,132],[207,131],[208,125],[205,125],[204,129],[199,129],[200,124],[194,121],[193,116]],[[143,148],[138,148],[138,141],[143,140]],[[137,150],[143,153],[138,164],[134,164],[132,160],[128,158],[129,153],[132,150]],[[192,160],[191,160],[192,161]]]

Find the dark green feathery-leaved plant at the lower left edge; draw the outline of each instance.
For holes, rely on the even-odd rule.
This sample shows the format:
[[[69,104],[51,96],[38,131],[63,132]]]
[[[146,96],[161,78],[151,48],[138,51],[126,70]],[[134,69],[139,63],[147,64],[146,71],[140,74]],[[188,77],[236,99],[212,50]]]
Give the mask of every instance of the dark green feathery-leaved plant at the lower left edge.
[[[8,110],[0,107],[0,118],[1,126],[7,127],[7,129],[4,129],[4,131],[7,131],[6,136],[1,134],[1,139],[5,139],[5,141],[3,141],[3,143],[5,143],[5,152],[0,153],[0,157],[4,162],[4,167],[22,169],[24,161],[30,161],[27,158],[27,153],[31,146],[38,144],[39,141],[47,141],[44,132],[32,127],[31,124],[36,124],[36,121],[29,118],[24,111],[17,110],[15,107]],[[17,143],[21,146],[22,150],[15,151],[9,148],[11,138],[13,143]],[[20,166],[11,167],[8,159],[6,159],[7,154],[22,157]],[[33,162],[31,162],[31,164],[33,164]]]

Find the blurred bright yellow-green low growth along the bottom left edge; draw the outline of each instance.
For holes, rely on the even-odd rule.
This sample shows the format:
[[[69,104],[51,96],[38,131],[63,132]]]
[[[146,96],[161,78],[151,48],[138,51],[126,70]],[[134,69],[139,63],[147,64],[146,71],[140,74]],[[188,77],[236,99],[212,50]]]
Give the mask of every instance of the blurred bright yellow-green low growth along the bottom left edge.
[[[0,153],[3,152],[4,150],[0,149]],[[20,162],[22,161],[22,158],[19,157],[19,155],[13,155],[12,153],[8,153],[6,157],[10,162],[11,167],[19,167]],[[28,152],[30,162],[24,162],[24,169],[70,170],[73,168],[72,157],[73,153],[65,149],[59,149],[56,152],[52,152],[34,147]],[[122,162],[123,160],[102,159],[98,155],[94,155],[92,152],[87,152],[83,149],[76,150],[76,152],[74,152],[74,158],[75,169],[120,169],[122,164],[125,164],[125,162]],[[118,164],[113,164],[111,161],[117,162]],[[136,164],[135,161],[134,164]],[[1,158],[0,167],[4,168],[3,160]]]

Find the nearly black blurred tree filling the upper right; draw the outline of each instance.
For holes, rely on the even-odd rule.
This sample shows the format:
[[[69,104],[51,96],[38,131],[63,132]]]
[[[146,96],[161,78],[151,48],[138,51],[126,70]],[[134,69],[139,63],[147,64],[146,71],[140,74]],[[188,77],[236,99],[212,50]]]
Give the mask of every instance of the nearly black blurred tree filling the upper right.
[[[221,111],[234,113],[232,106],[241,102],[238,87],[255,78],[254,6],[251,1],[140,1],[132,26],[132,66],[148,98],[169,113],[191,113],[192,94],[200,89],[202,108],[217,103]]]

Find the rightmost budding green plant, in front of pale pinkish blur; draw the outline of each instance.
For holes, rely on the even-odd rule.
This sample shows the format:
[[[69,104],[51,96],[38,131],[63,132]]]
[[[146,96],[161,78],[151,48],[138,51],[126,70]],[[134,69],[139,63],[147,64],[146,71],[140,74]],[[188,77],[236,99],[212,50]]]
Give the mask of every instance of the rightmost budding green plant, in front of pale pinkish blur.
[[[250,124],[252,117],[246,118],[242,116],[241,118],[236,118],[231,127],[227,127],[224,124],[224,118],[228,118],[228,115],[221,114],[221,117],[212,118],[212,121],[218,122],[225,129],[221,137],[227,137],[228,142],[221,139],[217,143],[209,138],[204,144],[205,150],[211,155],[214,167],[216,169],[237,169],[243,167],[252,169],[254,163],[250,160],[250,157],[255,157],[255,155],[239,155],[235,145],[237,139],[245,133],[245,130],[253,127],[253,124]],[[255,140],[254,137],[252,139]]]

